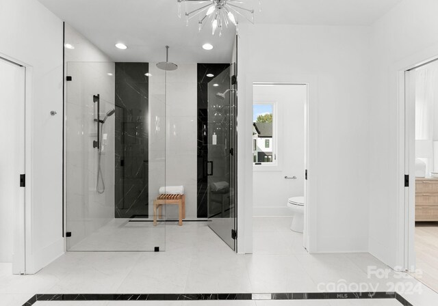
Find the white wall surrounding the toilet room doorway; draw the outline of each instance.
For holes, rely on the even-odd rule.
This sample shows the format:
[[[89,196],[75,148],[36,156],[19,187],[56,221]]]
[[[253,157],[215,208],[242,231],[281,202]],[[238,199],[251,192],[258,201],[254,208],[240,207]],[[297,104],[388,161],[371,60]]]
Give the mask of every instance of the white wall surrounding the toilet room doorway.
[[[318,186],[311,191],[316,214],[311,224],[313,249],[368,251],[370,28],[255,25],[243,26],[240,36],[238,126],[249,126],[240,130],[239,138],[240,213],[251,216],[248,209],[253,207],[252,114],[248,114],[253,101],[245,90],[246,78],[310,75],[318,79],[318,84],[309,85],[316,94],[310,98],[318,102],[317,122],[309,119],[318,128],[318,152],[309,161],[318,164]],[[245,223],[250,224],[248,217]],[[245,227],[246,252],[249,232]]]

